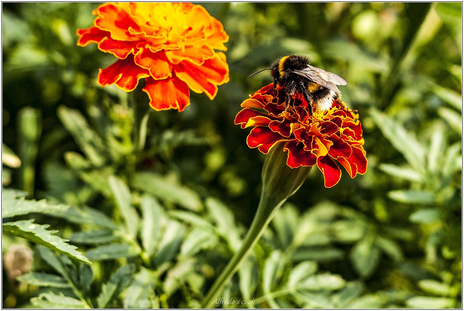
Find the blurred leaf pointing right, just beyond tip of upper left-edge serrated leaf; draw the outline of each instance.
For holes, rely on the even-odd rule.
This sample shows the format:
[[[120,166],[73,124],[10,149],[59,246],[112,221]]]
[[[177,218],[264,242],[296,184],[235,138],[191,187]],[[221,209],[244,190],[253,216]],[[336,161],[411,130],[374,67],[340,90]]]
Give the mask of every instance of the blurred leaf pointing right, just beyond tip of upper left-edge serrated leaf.
[[[99,227],[105,227],[111,230],[119,229],[113,222],[113,220],[111,220],[108,216],[106,216],[99,210],[88,206],[71,206],[70,208],[62,211],[47,211],[45,212],[45,214],[63,218],[69,222],[76,224],[95,225]]]

